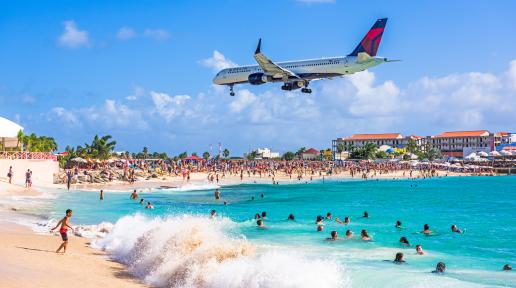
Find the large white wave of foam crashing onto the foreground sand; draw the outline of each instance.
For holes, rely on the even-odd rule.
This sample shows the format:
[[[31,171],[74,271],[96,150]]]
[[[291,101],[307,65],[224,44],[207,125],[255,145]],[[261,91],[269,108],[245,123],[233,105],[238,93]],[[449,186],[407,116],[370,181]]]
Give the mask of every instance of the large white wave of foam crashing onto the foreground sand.
[[[229,219],[122,217],[94,247],[158,287],[346,287],[342,267],[295,252],[261,251]]]

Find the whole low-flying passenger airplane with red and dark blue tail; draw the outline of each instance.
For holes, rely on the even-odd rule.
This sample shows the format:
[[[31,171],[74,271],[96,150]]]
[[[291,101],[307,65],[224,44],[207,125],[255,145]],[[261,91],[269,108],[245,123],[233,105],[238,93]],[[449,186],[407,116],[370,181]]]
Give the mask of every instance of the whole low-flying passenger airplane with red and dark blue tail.
[[[312,93],[312,89],[308,88],[310,81],[341,77],[385,62],[399,61],[376,57],[386,24],[387,18],[376,20],[355,50],[345,57],[275,63],[261,52],[260,38],[254,53],[258,65],[222,69],[213,78],[213,83],[229,86],[231,96],[235,96],[233,86],[236,84],[262,85],[269,82],[283,82],[282,90],[301,88],[302,93]]]

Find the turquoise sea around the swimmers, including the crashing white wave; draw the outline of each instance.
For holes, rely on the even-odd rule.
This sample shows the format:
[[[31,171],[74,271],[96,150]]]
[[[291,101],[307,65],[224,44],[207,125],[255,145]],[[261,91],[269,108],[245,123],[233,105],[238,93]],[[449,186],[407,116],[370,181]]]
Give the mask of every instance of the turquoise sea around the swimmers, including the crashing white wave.
[[[107,192],[103,201],[93,192],[62,192],[45,214],[59,218],[71,208],[74,224],[116,223],[114,233],[96,245],[158,286],[516,287],[515,272],[501,271],[516,264],[516,177],[235,185],[222,187],[219,201],[213,192],[140,193],[154,210],[130,200],[129,192]],[[216,220],[209,219],[212,209]],[[266,229],[253,219],[262,211]],[[361,217],[364,211],[369,218]],[[316,216],[327,212],[351,223],[325,220],[324,231],[317,232]],[[287,221],[290,213],[295,221]],[[394,227],[396,220],[403,229]],[[435,236],[417,233],[425,223]],[[452,233],[452,224],[465,233]],[[344,236],[348,229],[354,239],[325,240],[332,230]],[[359,240],[361,229],[372,242]],[[412,247],[400,246],[402,236]],[[427,254],[416,255],[416,244]],[[218,256],[242,245],[253,247],[251,256]],[[406,264],[384,261],[396,252],[405,254]],[[206,260],[213,255],[215,264]],[[447,272],[430,273],[439,261]]]

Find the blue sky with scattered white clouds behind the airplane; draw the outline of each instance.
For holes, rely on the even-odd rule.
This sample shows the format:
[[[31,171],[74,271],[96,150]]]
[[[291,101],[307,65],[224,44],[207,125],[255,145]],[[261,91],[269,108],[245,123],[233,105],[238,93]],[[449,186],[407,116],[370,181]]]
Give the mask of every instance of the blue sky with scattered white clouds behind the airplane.
[[[61,148],[222,144],[319,149],[352,133],[516,131],[514,1],[1,1],[0,116]],[[346,55],[388,17],[379,55],[403,59],[313,83],[214,87],[216,68]],[[216,52],[215,52],[216,51]]]

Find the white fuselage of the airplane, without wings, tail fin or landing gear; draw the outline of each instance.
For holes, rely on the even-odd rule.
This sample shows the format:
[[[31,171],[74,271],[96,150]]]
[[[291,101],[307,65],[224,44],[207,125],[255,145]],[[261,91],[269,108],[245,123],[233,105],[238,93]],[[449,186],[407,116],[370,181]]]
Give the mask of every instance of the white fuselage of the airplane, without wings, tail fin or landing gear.
[[[359,61],[358,57],[356,56],[346,56],[276,63],[278,66],[294,72],[301,79],[294,77],[289,77],[289,79],[266,77],[267,73],[264,72],[259,65],[239,66],[221,70],[213,79],[213,83],[219,85],[233,85],[243,83],[257,85],[264,84],[266,82],[295,82],[299,80],[310,81],[314,79],[339,77],[364,71],[370,67],[377,66],[386,60],[387,59],[381,57],[371,57],[365,61]],[[256,75],[257,73],[263,73],[265,75],[263,80],[266,81],[250,82],[249,76],[252,74]]]

